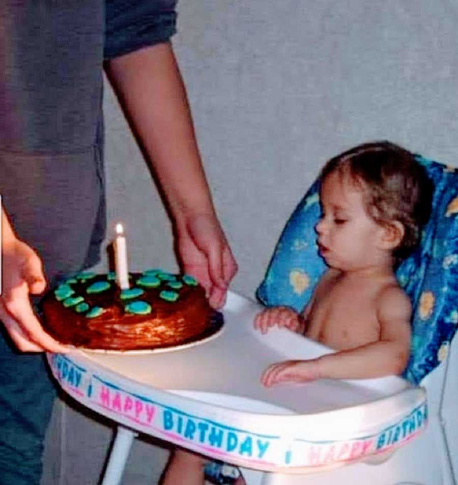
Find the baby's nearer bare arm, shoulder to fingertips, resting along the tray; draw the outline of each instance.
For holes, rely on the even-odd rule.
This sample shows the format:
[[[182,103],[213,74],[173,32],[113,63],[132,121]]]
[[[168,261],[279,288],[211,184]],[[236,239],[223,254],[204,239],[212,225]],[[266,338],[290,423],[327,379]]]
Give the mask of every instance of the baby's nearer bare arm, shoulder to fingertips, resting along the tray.
[[[410,354],[411,304],[396,287],[386,289],[378,304],[380,339],[356,349],[328,354],[311,360],[291,360],[271,365],[261,381],[309,382],[315,379],[365,379],[398,375]]]

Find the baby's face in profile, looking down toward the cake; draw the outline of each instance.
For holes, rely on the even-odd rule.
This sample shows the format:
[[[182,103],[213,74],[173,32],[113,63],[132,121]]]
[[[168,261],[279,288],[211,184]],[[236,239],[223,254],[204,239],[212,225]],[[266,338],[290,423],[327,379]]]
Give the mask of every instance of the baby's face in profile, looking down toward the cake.
[[[338,173],[328,175],[322,184],[322,217],[316,231],[320,254],[332,268],[355,271],[386,261],[387,253],[379,244],[383,227],[367,214],[363,195]]]

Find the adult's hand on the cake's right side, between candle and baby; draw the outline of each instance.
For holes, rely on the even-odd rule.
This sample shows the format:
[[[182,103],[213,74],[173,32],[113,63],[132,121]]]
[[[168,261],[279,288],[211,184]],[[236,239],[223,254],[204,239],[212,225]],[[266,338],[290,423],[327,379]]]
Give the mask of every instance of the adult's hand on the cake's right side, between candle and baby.
[[[237,263],[214,215],[198,215],[177,227],[177,250],[185,273],[205,288],[210,305],[221,308]]]

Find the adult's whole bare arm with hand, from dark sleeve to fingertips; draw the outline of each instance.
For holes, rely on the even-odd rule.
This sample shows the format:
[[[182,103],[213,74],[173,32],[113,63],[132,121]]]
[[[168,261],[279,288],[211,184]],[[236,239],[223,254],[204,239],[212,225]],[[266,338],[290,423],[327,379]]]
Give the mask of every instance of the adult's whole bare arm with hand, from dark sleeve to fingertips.
[[[237,265],[215,214],[171,44],[114,58],[106,72],[165,196],[182,268],[219,307]]]

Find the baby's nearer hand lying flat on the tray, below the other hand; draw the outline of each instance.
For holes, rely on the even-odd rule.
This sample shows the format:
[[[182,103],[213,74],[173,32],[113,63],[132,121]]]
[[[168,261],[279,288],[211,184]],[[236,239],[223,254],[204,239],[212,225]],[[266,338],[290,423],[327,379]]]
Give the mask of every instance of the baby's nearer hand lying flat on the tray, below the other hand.
[[[286,360],[267,367],[261,382],[270,387],[280,382],[311,382],[319,378],[317,360]]]

